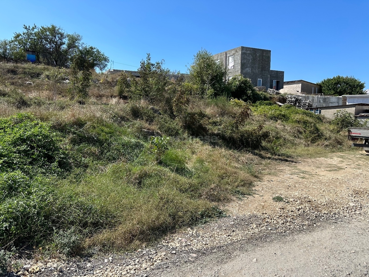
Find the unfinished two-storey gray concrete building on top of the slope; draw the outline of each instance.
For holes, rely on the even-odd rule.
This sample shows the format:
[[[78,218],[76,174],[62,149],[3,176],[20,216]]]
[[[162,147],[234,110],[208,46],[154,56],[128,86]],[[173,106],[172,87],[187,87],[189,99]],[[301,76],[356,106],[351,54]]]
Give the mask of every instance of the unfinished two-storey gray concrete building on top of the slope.
[[[213,55],[227,69],[228,79],[242,74],[250,78],[254,86],[280,90],[283,88],[284,71],[270,69],[270,50],[240,46]]]

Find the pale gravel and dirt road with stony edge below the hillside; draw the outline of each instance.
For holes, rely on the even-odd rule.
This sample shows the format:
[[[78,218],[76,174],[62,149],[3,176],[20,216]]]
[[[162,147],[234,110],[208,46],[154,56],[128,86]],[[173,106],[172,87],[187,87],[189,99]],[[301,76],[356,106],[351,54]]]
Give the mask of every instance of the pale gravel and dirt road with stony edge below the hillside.
[[[254,196],[222,207],[227,217],[149,249],[22,262],[39,268],[31,276],[369,276],[368,161],[351,152],[272,162]]]

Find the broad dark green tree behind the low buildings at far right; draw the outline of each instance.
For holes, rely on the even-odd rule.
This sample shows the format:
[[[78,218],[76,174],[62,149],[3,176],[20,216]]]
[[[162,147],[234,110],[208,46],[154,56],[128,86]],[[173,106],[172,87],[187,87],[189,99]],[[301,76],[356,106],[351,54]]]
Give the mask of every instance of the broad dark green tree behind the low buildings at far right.
[[[365,88],[365,83],[354,76],[334,76],[324,79],[317,83],[321,86],[321,92],[324,95],[355,95],[362,94]]]

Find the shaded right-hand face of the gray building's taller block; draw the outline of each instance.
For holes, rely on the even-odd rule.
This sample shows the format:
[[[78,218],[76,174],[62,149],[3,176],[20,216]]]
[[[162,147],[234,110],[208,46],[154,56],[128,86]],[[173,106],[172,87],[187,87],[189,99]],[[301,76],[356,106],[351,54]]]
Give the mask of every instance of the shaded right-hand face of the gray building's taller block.
[[[258,85],[258,79],[262,79],[262,86],[269,88],[270,52],[266,49],[241,46],[241,74],[250,78],[254,86]]]

